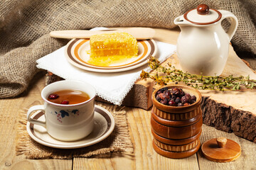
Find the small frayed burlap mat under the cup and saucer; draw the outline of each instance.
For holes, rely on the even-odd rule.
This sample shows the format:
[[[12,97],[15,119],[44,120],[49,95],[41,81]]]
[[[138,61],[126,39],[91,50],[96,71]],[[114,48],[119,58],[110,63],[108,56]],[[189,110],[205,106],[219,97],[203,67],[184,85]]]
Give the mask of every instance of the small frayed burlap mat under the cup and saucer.
[[[110,152],[132,154],[134,149],[129,137],[126,112],[124,109],[107,105],[106,103],[102,105],[102,103],[96,102],[96,104],[110,111],[115,121],[113,132],[105,140],[102,140],[102,142],[78,149],[46,147],[34,141],[28,135],[26,131],[26,111],[21,111],[17,123],[16,154],[25,154],[28,159],[72,159],[73,157],[102,156]]]

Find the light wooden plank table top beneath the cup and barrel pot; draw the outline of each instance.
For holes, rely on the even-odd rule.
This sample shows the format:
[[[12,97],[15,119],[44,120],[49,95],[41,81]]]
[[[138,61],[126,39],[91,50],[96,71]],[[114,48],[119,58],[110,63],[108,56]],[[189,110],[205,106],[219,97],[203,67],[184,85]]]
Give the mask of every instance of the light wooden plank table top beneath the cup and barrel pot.
[[[155,29],[155,40],[176,44],[179,30]],[[16,156],[16,122],[18,112],[42,104],[41,90],[46,77],[39,73],[28,90],[18,98],[0,100],[0,169],[255,169],[256,144],[215,128],[203,125],[201,143],[224,136],[238,142],[242,154],[234,162],[215,163],[204,158],[201,152],[186,159],[169,159],[157,154],[152,147],[150,111],[141,108],[124,108],[127,112],[129,132],[134,154],[110,153],[104,157],[74,159],[26,159]]]

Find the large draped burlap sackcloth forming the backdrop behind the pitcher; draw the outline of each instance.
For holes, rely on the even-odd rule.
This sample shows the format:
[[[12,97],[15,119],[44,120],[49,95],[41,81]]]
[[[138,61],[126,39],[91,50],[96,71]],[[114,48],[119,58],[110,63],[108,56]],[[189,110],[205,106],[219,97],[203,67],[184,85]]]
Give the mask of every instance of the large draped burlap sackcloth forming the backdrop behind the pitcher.
[[[28,87],[39,70],[36,60],[65,45],[50,38],[51,30],[99,26],[174,28],[174,18],[198,4],[231,11],[239,26],[235,49],[256,54],[255,0],[8,0],[0,2],[0,98],[14,97]],[[227,28],[228,22],[224,23]]]

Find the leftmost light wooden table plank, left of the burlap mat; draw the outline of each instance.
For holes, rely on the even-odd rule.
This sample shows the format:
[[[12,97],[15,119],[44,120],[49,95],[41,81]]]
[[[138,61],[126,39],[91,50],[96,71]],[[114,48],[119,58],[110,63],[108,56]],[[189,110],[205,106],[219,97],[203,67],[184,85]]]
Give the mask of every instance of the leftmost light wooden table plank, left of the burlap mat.
[[[36,75],[28,93],[18,98],[0,100],[0,169],[72,169],[72,159],[26,159],[16,156],[16,122],[19,111],[32,103],[41,103],[41,90],[45,86],[43,74]]]

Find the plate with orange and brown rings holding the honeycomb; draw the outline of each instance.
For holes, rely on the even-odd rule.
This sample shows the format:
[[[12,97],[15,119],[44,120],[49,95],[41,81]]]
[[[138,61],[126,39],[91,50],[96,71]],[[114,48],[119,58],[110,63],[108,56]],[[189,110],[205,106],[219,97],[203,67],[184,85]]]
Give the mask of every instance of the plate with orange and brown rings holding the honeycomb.
[[[118,64],[110,64],[109,66],[98,66],[90,64],[90,40],[89,39],[73,39],[65,46],[65,57],[70,64],[80,69],[85,69],[90,72],[124,72],[130,69],[141,67],[147,63],[150,56],[155,57],[157,46],[152,39],[138,40],[139,52],[137,57],[132,57],[125,62]]]

